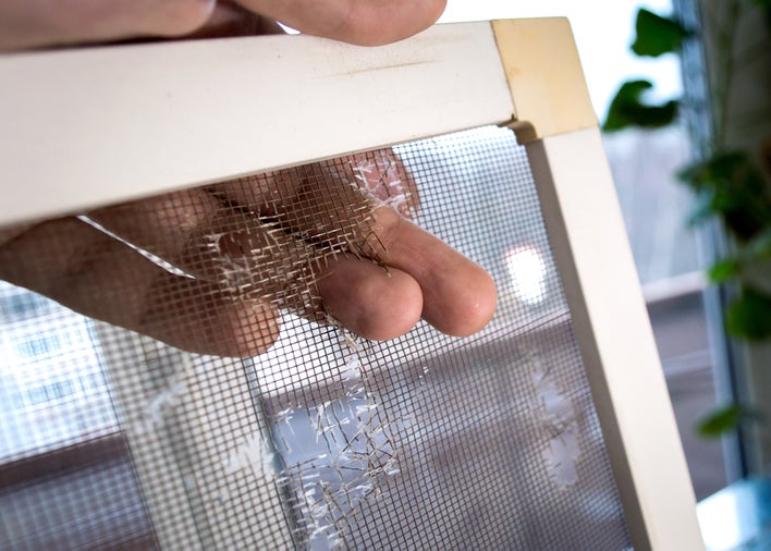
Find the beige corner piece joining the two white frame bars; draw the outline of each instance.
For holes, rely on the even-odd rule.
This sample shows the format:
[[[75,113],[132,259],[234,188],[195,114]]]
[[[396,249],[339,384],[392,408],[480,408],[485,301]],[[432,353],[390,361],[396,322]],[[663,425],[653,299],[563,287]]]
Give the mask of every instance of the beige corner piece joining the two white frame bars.
[[[565,17],[491,22],[521,144],[598,125]]]

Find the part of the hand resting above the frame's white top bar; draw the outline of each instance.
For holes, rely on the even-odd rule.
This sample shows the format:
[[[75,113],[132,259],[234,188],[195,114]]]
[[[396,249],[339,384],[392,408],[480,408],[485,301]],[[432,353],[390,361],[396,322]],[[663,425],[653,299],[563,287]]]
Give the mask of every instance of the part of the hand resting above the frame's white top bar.
[[[0,51],[142,37],[301,33],[375,46],[431,25],[445,0],[3,0]],[[258,15],[259,14],[259,15]]]

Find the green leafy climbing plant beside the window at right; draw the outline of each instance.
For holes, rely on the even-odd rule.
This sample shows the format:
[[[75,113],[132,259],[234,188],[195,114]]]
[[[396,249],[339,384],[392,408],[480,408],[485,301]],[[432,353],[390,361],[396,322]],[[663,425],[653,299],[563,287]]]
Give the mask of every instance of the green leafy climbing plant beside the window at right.
[[[771,0],[725,1],[730,16],[721,23],[715,52],[711,139],[702,158],[683,168],[677,176],[696,197],[689,222],[696,225],[718,219],[731,242],[731,252],[709,270],[711,282],[727,284],[733,291],[725,309],[726,330],[738,339],[756,342],[771,339],[771,187],[752,151],[730,146],[726,125],[733,77],[742,61],[734,51],[736,22],[743,10],[759,10],[771,32]],[[640,9],[636,35],[632,45],[636,54],[659,57],[678,52],[685,40],[696,36],[696,29]],[[683,100],[646,102],[645,93],[652,87],[652,83],[644,79],[623,83],[610,105],[603,131],[616,132],[629,126],[656,128],[675,123]],[[769,156],[768,151],[764,155]],[[771,171],[771,167],[766,170]],[[699,431],[712,438],[754,418],[757,415],[751,408],[729,404],[703,418]]]

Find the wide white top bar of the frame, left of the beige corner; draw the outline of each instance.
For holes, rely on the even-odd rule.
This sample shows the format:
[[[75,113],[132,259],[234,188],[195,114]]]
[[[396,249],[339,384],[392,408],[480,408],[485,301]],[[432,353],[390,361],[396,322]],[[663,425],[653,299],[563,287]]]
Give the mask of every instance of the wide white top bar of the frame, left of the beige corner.
[[[0,224],[507,121],[489,23],[0,57]]]

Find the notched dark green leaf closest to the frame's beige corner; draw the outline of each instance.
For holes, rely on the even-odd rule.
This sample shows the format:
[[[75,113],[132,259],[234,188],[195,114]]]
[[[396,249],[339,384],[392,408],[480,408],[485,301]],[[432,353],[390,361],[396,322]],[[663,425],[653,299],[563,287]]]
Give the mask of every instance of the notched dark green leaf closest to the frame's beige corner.
[[[671,124],[677,115],[678,102],[670,100],[658,106],[641,101],[653,85],[649,81],[628,81],[621,85],[608,109],[602,130],[615,132],[628,126],[658,128]]]

